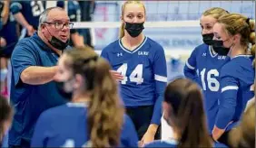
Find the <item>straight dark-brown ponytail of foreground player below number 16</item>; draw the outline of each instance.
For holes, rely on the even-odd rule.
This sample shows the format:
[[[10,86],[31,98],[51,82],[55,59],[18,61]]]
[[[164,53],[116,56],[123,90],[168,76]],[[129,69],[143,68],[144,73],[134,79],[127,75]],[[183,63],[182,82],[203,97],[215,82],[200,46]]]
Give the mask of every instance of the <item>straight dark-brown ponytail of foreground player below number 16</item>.
[[[178,147],[211,147],[212,143],[207,134],[206,118],[203,113],[202,93],[195,84],[188,86],[186,91],[189,93],[177,115],[181,116],[178,123],[181,133]]]

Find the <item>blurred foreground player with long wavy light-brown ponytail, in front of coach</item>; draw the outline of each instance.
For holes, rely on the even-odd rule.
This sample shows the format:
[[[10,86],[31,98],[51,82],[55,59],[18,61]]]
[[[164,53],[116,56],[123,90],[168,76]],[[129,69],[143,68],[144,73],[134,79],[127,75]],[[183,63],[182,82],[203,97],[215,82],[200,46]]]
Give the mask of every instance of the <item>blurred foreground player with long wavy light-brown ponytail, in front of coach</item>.
[[[133,122],[124,115],[108,62],[83,48],[65,51],[58,66],[54,78],[71,102],[40,116],[31,146],[137,147]]]

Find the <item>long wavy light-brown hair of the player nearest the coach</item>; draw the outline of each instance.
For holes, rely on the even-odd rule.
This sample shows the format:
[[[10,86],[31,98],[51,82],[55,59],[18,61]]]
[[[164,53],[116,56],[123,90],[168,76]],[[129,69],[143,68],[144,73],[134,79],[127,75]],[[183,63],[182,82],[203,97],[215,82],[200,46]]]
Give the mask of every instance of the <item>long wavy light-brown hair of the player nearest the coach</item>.
[[[90,142],[93,147],[118,146],[124,109],[109,63],[90,48],[65,51],[65,66],[84,78],[84,88],[91,100],[88,106]]]

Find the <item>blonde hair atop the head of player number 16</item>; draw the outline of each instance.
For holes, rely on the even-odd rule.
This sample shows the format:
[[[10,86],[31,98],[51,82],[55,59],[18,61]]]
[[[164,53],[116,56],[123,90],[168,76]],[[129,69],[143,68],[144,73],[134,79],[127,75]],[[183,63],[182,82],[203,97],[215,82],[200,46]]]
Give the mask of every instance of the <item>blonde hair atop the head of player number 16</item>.
[[[202,15],[203,16],[211,15],[213,18],[218,20],[223,14],[229,14],[229,12],[220,7],[212,7],[210,9],[206,10],[205,12],[203,12]]]

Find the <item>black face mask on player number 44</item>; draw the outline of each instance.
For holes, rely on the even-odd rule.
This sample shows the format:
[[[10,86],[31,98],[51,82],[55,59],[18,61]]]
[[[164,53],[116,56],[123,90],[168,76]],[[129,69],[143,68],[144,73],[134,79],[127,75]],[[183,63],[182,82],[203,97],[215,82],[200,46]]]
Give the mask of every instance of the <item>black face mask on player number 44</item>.
[[[143,32],[143,23],[127,23],[125,22],[125,30],[133,37],[137,37]]]

